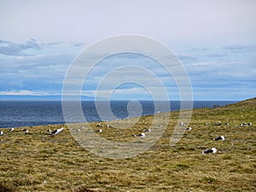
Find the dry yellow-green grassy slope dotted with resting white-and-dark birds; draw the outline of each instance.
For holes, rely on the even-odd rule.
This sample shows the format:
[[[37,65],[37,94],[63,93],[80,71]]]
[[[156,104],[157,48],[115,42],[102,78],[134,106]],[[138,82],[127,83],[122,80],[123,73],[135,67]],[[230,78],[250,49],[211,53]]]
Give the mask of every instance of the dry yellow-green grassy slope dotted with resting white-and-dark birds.
[[[45,132],[66,125],[26,127],[28,134],[20,131],[23,128],[1,129],[5,134],[0,137],[0,191],[256,191],[255,98],[222,108],[195,109],[189,123],[192,130],[171,147],[178,114],[171,113],[166,131],[153,147],[128,159],[92,154],[68,129],[56,137]],[[131,135],[151,120],[152,116],[141,117],[119,137],[113,134],[117,130],[103,127],[101,136],[116,141],[143,139]],[[218,122],[222,125],[214,125]],[[240,126],[243,122],[253,125]],[[90,124],[92,129],[96,124]],[[221,135],[226,140],[211,139]],[[216,154],[201,154],[212,147],[218,149]]]

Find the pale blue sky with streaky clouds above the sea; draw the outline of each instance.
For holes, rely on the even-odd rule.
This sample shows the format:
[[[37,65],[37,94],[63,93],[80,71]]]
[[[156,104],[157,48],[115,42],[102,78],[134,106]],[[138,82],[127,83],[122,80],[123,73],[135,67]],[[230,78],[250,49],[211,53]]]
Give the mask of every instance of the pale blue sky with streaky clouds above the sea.
[[[252,98],[256,94],[255,20],[254,0],[2,0],[0,99],[60,96],[68,69],[85,49],[125,34],[153,38],[172,49],[188,73],[194,100]],[[175,80],[157,61],[132,53],[98,62],[80,94],[151,99],[148,90],[158,92],[159,84],[135,84],[147,81],[149,73],[139,73],[136,67],[122,71],[126,65],[154,73],[170,100],[180,99]],[[99,86],[111,70],[115,75]]]

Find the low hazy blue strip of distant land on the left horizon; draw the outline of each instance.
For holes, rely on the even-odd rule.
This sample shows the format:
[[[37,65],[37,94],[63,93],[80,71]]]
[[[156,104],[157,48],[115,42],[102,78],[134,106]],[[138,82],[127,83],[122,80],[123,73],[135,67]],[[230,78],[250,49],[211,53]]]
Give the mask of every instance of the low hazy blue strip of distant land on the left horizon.
[[[94,101],[94,97],[82,96],[83,101]],[[0,96],[0,101],[61,101],[61,96]]]

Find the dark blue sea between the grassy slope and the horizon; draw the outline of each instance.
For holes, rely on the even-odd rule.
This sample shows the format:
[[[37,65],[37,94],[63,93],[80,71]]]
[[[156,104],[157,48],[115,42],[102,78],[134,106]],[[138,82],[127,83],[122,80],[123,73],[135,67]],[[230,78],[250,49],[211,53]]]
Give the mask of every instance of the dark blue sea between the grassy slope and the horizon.
[[[213,108],[221,107],[237,101],[195,101],[193,102],[193,108]],[[140,101],[139,104],[135,103],[135,106],[139,106],[140,113],[131,113],[129,109],[129,101],[111,101],[102,102],[100,110],[108,112],[109,106],[112,115],[108,115],[102,118],[101,113],[98,113],[99,108],[96,108],[96,102],[83,101],[81,102],[82,111],[87,122],[105,121],[115,119],[126,119],[133,116],[143,116],[156,113],[155,103],[153,101]],[[164,102],[163,102],[164,103]],[[179,101],[171,101],[171,108],[166,108],[166,105],[162,105],[162,108],[158,105],[157,112],[177,111],[180,110]],[[131,105],[130,105],[131,107]],[[66,121],[63,117],[61,102],[58,101],[0,101],[0,128],[20,127],[20,126],[35,126],[35,125],[61,125]]]

